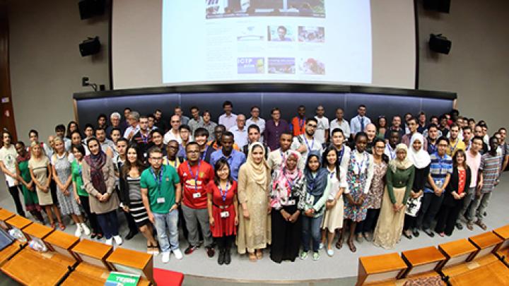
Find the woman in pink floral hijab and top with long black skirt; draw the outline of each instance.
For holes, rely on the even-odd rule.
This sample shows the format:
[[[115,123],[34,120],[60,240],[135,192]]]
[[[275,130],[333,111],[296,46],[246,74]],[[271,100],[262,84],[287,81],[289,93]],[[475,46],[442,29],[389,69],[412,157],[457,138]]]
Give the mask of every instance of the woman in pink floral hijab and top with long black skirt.
[[[302,215],[304,212],[304,174],[298,169],[300,153],[287,150],[281,169],[272,175],[270,258],[276,263],[295,261],[300,249]]]

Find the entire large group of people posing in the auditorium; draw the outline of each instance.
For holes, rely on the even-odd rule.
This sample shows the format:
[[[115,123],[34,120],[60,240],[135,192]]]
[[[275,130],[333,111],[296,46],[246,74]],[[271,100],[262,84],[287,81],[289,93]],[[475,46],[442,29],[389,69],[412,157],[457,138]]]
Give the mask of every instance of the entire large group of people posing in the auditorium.
[[[146,238],[164,263],[204,246],[231,262],[231,249],[257,261],[334,255],[363,242],[392,249],[402,239],[450,236],[455,229],[486,230],[491,193],[509,160],[505,128],[488,136],[484,121],[457,110],[371,121],[365,105],[350,122],[324,107],[291,121],[234,114],[232,102],[211,121],[209,111],[180,107],[140,115],[129,108],[98,116],[83,132],[74,121],[55,127],[46,143],[2,132],[0,168],[19,215],[64,230],[69,216],[77,237],[122,244],[118,213],[131,239]],[[19,193],[23,194],[23,203]]]

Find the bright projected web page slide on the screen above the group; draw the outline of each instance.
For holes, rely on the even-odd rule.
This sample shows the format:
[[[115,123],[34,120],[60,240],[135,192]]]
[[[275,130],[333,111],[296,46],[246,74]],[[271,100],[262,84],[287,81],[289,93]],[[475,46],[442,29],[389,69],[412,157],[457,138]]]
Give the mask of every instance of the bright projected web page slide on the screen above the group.
[[[165,84],[370,84],[369,0],[163,0]]]

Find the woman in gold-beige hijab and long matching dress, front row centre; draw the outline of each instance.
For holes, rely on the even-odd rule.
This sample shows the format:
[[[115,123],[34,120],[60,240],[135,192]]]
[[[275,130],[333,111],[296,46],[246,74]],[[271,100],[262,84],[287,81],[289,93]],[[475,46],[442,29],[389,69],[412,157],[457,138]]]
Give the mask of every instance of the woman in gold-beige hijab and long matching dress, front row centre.
[[[240,166],[238,198],[242,206],[237,248],[239,254],[249,253],[250,261],[262,259],[263,249],[271,243],[270,169],[265,162],[262,143],[253,143],[247,161]]]

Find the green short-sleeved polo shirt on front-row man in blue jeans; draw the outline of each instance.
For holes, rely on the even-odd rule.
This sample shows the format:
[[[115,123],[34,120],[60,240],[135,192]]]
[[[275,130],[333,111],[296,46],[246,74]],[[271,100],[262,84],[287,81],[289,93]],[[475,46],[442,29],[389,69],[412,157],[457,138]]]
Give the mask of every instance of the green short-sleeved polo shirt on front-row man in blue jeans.
[[[160,177],[153,173],[152,168],[141,173],[140,186],[142,189],[148,189],[148,202],[152,213],[170,212],[170,208],[175,204],[175,184],[178,183],[180,179],[177,171],[170,165],[161,166]],[[164,198],[164,203],[160,202],[160,198]]]

